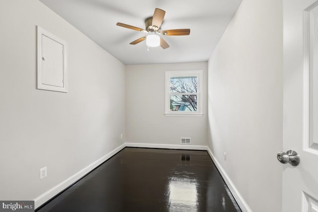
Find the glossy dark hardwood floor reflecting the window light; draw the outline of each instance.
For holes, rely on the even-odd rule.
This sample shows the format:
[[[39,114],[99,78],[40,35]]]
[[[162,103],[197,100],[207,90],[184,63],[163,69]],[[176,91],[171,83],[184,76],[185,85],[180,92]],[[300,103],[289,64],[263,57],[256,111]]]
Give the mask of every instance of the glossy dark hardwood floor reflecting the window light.
[[[37,212],[241,212],[206,151],[126,147]]]

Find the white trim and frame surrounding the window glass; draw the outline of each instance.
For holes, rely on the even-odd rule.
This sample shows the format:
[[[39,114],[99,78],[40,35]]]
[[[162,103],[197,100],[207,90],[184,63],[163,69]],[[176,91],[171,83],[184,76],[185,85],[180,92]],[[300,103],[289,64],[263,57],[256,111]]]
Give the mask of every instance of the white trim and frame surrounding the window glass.
[[[197,111],[189,112],[179,112],[179,111],[170,111],[170,78],[176,76],[196,76],[198,78],[198,87],[197,87]],[[165,71],[165,116],[197,116],[200,117],[203,115],[203,71],[194,70],[194,71]]]

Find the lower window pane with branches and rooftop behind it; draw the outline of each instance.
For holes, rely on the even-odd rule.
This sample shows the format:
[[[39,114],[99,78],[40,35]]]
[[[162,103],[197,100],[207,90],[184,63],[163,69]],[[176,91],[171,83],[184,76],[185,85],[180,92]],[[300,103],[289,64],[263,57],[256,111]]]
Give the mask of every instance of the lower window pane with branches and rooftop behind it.
[[[197,111],[197,95],[170,95],[170,111]]]

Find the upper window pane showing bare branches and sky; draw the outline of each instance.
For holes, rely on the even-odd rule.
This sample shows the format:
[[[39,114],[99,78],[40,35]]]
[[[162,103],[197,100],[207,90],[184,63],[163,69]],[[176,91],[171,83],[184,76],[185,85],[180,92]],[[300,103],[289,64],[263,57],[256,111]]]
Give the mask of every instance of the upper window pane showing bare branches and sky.
[[[196,93],[197,76],[170,77],[170,93]]]

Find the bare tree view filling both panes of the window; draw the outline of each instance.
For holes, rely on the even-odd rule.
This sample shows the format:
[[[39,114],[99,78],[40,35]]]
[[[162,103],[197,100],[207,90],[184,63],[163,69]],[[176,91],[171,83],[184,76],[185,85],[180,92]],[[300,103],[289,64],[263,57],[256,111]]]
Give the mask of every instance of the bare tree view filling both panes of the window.
[[[170,77],[170,111],[197,111],[197,76]]]

